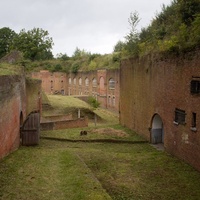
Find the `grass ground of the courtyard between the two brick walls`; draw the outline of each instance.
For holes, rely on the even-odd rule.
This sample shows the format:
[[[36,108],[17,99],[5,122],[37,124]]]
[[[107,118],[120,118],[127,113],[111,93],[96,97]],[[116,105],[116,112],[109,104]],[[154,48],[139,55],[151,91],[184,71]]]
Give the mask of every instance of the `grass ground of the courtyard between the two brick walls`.
[[[38,146],[0,160],[0,199],[200,199],[199,172],[108,119],[85,128],[85,136],[81,129],[42,132]]]

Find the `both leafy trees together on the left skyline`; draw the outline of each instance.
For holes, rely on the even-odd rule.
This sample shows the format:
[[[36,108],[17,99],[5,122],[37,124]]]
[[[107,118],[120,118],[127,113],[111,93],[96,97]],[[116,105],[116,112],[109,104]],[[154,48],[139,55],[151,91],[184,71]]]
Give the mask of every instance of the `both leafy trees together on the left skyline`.
[[[49,33],[41,28],[26,31],[22,29],[19,34],[4,27],[0,29],[0,58],[13,50],[23,53],[25,59],[48,60],[53,58],[53,39]]]

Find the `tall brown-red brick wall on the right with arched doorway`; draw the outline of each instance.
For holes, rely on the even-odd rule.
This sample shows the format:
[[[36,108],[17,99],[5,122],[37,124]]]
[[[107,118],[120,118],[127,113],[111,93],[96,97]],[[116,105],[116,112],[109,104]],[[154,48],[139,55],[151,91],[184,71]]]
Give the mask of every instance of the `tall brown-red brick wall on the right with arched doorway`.
[[[120,122],[151,140],[152,118],[163,121],[164,146],[200,170],[200,96],[191,95],[192,77],[200,77],[200,52],[180,57],[125,60],[120,70]],[[175,125],[175,108],[186,123]],[[197,131],[191,131],[192,112]]]

